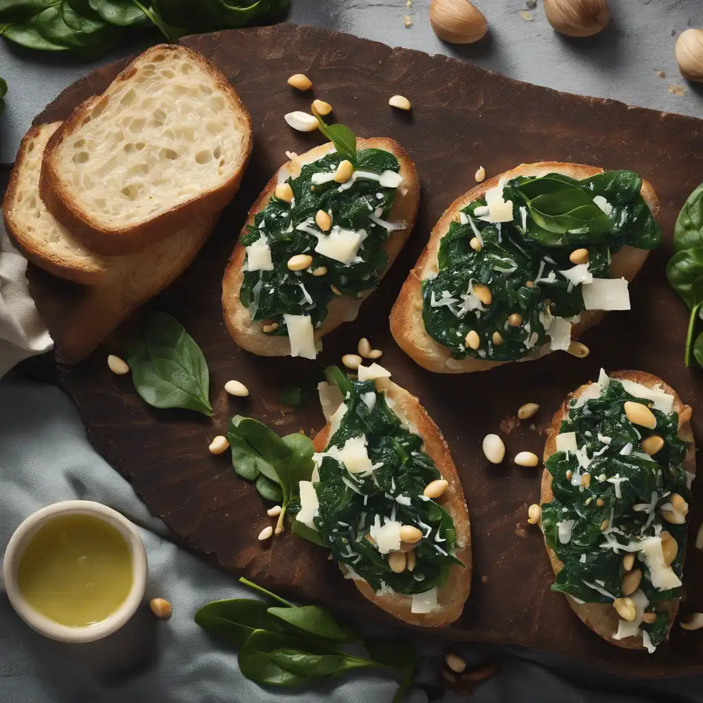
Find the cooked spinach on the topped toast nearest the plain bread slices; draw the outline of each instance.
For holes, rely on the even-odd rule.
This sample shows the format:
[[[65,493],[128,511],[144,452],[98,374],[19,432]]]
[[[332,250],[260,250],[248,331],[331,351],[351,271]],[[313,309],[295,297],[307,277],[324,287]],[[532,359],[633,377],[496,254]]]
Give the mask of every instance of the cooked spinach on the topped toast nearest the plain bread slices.
[[[384,188],[378,180],[363,176],[348,183],[312,183],[314,174],[334,172],[344,158],[335,151],[304,165],[299,176],[286,181],[293,191],[292,203],[273,196],[254,215],[254,225],[242,238],[247,247],[264,236],[271,250],[272,271],[247,271],[247,255],[240,290],[241,302],[249,308],[252,320],[278,323],[278,328],[269,334],[288,335],[284,314],[309,315],[313,325],[319,327],[327,316],[330,300],[337,295],[333,288],[342,295],[358,298],[378,285],[380,271],[388,264],[388,256],[382,249],[388,230],[370,218],[385,220],[396,188]],[[398,173],[400,165],[392,153],[361,149],[356,152],[356,170],[371,174]],[[366,234],[349,266],[315,251],[319,238],[329,236],[329,232],[321,231],[315,223],[318,210],[330,214],[333,229]],[[290,271],[288,260],[296,254],[309,254],[313,259],[311,266],[304,271]],[[314,276],[313,271],[322,266],[327,273]]]

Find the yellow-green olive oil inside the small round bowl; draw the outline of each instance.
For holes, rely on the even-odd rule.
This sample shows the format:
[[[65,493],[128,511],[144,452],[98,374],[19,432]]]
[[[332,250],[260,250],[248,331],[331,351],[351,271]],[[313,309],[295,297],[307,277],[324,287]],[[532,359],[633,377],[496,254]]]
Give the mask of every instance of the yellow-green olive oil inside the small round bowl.
[[[129,595],[134,574],[127,540],[93,515],[62,515],[30,539],[18,586],[42,615],[69,627],[96,624]]]

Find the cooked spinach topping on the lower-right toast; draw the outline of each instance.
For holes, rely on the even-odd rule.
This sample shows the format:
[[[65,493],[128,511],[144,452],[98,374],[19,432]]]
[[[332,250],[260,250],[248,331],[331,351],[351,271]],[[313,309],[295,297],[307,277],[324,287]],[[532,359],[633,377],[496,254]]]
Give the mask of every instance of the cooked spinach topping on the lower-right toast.
[[[685,501],[690,498],[683,469],[686,445],[678,438],[678,413],[665,414],[650,407],[657,426],[649,430],[628,420],[626,401],[652,405],[652,401],[628,393],[615,379],[608,382],[600,397],[587,400],[580,407],[572,401],[560,432],[576,433],[580,456],[560,451],[546,463],[552,475],[554,499],[542,506],[542,529],[547,545],[564,563],[552,590],[586,602],[612,602],[612,598],[586,582],[600,586],[615,598],[623,598],[623,558],[638,552],[618,545],[632,547],[633,542],[662,535],[664,531],[678,545],[671,568],[681,579],[687,526],[666,522],[661,512],[673,494]],[[664,446],[649,456],[641,451],[640,444],[652,435],[662,437]],[[583,463],[588,464],[585,469]],[[586,486],[582,479],[585,472],[590,476]],[[573,522],[567,523],[571,526],[570,538],[562,543],[559,524],[565,521]],[[665,600],[681,597],[681,588],[658,591],[643,560],[636,559],[635,568],[643,573],[640,589],[650,602],[648,612],[654,612]],[[661,643],[666,636],[666,614],[658,613],[656,621],[641,627],[653,645]]]

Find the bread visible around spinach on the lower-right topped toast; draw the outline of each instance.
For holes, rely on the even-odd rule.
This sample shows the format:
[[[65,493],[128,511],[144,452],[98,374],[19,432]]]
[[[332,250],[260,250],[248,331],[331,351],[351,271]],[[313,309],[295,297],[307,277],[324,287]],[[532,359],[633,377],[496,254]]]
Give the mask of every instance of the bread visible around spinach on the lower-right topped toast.
[[[678,436],[689,443],[686,456],[683,460],[683,467],[686,471],[695,474],[696,448],[690,423],[690,406],[684,405],[681,398],[678,397],[678,394],[676,394],[676,391],[671,388],[671,386],[666,385],[661,378],[657,378],[657,376],[654,376],[651,373],[645,373],[644,371],[613,371],[612,373],[609,373],[608,376],[614,379],[624,379],[640,383],[647,388],[659,386],[665,393],[673,395],[673,410],[678,413],[680,418],[678,425]],[[581,395],[583,395],[583,393],[588,390],[590,385],[591,383],[586,383],[574,392],[569,393],[562,406],[555,413],[552,424],[547,430],[547,442],[544,447],[543,457],[545,463],[548,458],[550,458],[550,456],[557,451],[557,434],[559,434],[562,420],[564,420],[569,413],[569,404],[572,400],[578,399]],[[545,469],[542,472],[541,503],[551,503],[553,499],[554,494],[552,492],[552,475]],[[547,547],[547,553],[549,555],[552,568],[554,569],[554,573],[558,574],[564,567],[563,562],[560,561],[554,550],[549,547]],[[572,610],[574,610],[576,615],[578,615],[579,618],[581,618],[581,620],[588,627],[590,627],[591,630],[593,630],[593,632],[600,635],[604,640],[607,640],[611,644],[617,645],[618,647],[625,647],[626,649],[640,650],[644,648],[642,639],[639,637],[627,637],[622,640],[613,639],[612,636],[618,629],[619,617],[614,607],[612,607],[610,603],[579,603],[576,602],[570,595],[565,595],[567,602],[572,607]],[[667,617],[669,617],[669,629],[671,629],[673,621],[676,619],[678,603],[678,600],[667,600],[658,607],[658,610],[663,610],[666,612]]]

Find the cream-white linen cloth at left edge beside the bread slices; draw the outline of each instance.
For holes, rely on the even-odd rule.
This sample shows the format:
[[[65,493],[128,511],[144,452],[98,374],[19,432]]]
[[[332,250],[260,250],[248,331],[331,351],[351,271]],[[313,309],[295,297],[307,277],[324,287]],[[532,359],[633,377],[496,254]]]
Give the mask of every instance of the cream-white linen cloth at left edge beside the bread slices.
[[[0,378],[28,356],[44,354],[53,340],[27,288],[27,259],[0,219]]]

